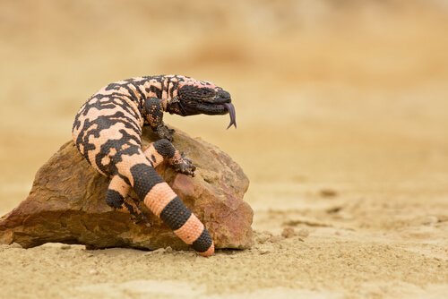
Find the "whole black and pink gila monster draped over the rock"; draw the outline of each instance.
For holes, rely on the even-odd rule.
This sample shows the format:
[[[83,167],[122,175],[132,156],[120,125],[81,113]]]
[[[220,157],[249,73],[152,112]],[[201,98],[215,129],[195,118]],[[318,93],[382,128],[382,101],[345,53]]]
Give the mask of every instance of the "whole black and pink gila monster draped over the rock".
[[[81,107],[73,124],[73,141],[92,167],[108,176],[106,202],[145,220],[138,204],[126,199],[134,188],[140,201],[202,256],[214,252],[211,235],[177,194],[157,174],[163,160],[177,172],[194,175],[189,158],[174,148],[173,129],[163,112],[176,115],[230,115],[237,127],[230,94],[208,81],[180,75],[131,78],[108,84]],[[159,140],[142,149],[142,126],[149,125]]]

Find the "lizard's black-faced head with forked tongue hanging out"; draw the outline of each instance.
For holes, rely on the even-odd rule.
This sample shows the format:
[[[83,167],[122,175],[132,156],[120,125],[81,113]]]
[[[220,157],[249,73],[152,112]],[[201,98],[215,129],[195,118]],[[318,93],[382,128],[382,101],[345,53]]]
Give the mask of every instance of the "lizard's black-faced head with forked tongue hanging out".
[[[193,79],[179,83],[177,97],[168,103],[168,112],[177,115],[230,115],[230,124],[237,127],[235,107],[230,94],[207,81]]]

